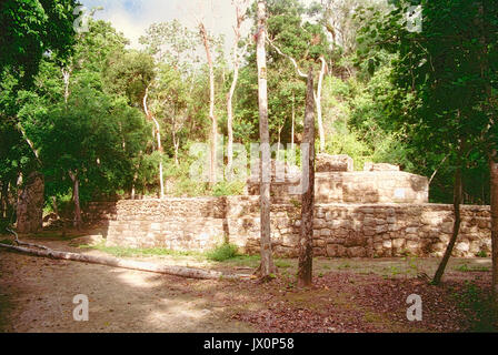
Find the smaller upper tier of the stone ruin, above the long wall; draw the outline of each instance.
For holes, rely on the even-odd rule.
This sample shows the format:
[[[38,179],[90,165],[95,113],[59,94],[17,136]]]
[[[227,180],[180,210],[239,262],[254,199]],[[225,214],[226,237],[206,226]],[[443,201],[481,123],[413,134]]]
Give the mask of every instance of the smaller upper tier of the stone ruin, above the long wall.
[[[299,186],[300,172],[297,168],[279,168],[272,163],[271,197],[273,203],[300,199],[292,194],[292,186]],[[277,169],[286,171],[282,176]],[[363,171],[353,171],[353,161],[348,155],[318,154],[315,173],[316,203],[427,203],[429,182],[425,176],[400,171],[399,166],[386,163],[365,163]],[[288,173],[291,172],[291,173]],[[297,189],[295,189],[297,190]],[[248,194],[259,195],[259,175],[248,180]]]

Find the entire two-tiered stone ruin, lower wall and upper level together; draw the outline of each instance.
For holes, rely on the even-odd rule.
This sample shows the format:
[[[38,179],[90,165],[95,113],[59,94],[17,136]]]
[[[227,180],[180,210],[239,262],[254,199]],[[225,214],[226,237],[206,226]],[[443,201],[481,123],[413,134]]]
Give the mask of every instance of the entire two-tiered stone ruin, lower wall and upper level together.
[[[286,171],[285,179],[276,174]],[[301,223],[297,166],[272,163],[271,242],[277,256],[297,256]],[[319,155],[316,173],[313,254],[327,257],[442,256],[452,232],[452,205],[428,202],[428,181],[396,165],[352,171],[347,155]],[[256,174],[258,176],[258,174]],[[252,176],[253,178],[253,176]],[[167,197],[91,203],[87,222],[99,225],[108,246],[206,251],[223,241],[259,253],[258,179],[248,193],[220,197]],[[454,255],[491,250],[489,206],[461,206]]]

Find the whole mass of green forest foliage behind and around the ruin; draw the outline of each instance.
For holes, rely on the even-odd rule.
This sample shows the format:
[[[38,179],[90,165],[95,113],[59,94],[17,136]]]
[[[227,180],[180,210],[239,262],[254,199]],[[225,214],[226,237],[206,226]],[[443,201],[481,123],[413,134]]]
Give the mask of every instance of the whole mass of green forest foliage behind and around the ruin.
[[[326,60],[321,104],[328,153],[351,155],[356,170],[366,161],[426,176],[437,170],[430,200],[449,202],[456,148],[464,142],[466,202],[488,203],[486,152],[498,136],[497,126],[487,124],[496,116],[490,103],[498,89],[497,7],[487,3],[480,17],[480,2],[421,1],[424,31],[417,33],[406,30],[411,3],[397,1],[389,9],[371,0],[309,7],[271,0],[268,34],[303,71],[311,67],[317,73],[319,59]],[[14,216],[17,180],[32,171],[43,173],[47,197],[56,196],[66,211],[72,209],[69,171],[78,175],[84,204],[128,197],[132,191],[157,196],[160,162],[169,195],[240,194],[242,182],[209,187],[190,178],[196,158],[189,149],[210,135],[209,80],[197,29],[178,20],[156,23],[140,39],[145,50],[130,50],[109,22],[90,20],[89,32],[73,33],[74,6],[70,0],[0,4],[0,187],[8,190],[1,191],[8,211],[0,214]],[[258,83],[256,47],[252,39],[243,42],[248,50],[233,97],[233,136],[249,151],[259,140]],[[210,43],[216,116],[219,133],[227,135],[232,74],[222,39]],[[290,143],[292,114],[293,140],[302,139],[305,89],[288,58],[268,45],[271,143]],[[299,149],[297,155],[299,165]]]

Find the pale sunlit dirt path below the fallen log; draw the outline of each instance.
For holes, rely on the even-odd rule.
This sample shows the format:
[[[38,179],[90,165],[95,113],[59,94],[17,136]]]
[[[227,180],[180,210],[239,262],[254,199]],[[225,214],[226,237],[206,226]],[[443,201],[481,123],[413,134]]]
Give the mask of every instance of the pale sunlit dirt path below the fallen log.
[[[252,331],[226,318],[227,305],[216,301],[208,281],[0,250],[0,332]],[[77,294],[89,297],[88,322],[73,321]]]

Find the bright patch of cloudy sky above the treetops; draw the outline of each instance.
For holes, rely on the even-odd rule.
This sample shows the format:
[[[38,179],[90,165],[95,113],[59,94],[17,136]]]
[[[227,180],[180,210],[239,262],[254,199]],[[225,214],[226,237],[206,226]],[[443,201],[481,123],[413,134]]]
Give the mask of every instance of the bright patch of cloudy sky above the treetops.
[[[303,3],[311,0],[303,0]],[[103,7],[94,18],[110,21],[112,26],[131,41],[131,47],[140,49],[138,39],[145,34],[150,24],[173,19],[189,28],[195,28],[199,20],[205,21],[208,30],[225,34],[226,52],[233,41],[235,8],[231,0],[80,0],[89,10]],[[246,21],[245,32],[250,29]]]

